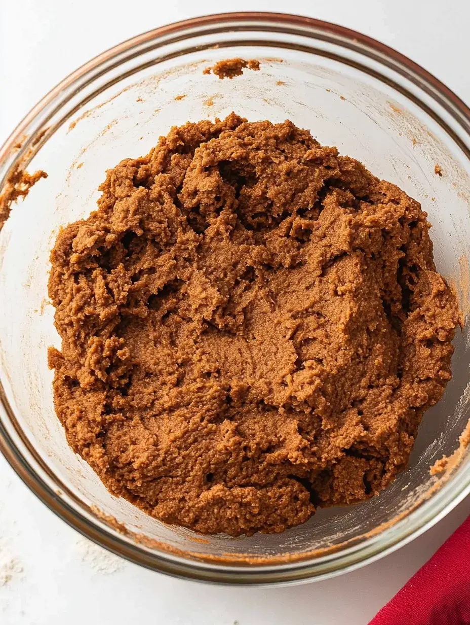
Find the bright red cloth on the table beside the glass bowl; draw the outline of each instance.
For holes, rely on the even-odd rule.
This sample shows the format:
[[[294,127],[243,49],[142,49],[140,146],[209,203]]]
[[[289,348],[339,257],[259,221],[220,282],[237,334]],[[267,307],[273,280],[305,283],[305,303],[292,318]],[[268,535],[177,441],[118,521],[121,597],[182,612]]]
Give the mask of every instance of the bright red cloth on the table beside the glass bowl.
[[[469,624],[470,517],[369,625]]]

